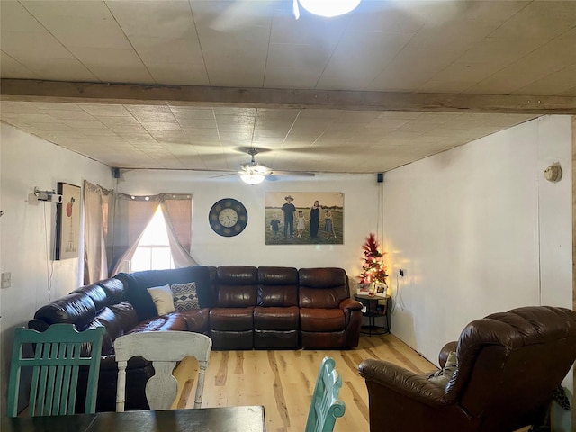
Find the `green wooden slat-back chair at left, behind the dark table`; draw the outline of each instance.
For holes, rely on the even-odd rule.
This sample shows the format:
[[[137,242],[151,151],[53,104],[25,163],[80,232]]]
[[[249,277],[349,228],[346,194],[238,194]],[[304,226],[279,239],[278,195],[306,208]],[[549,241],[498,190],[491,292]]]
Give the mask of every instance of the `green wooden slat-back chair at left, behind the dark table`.
[[[7,415],[18,415],[23,368],[31,368],[32,374],[28,403],[30,416],[74,414],[78,372],[82,366],[88,367],[85,412],[94,413],[104,331],[103,327],[99,327],[78,332],[72,324],[53,324],[41,333],[31,329],[16,329],[8,383]],[[25,344],[33,344],[32,358],[23,357]],[[91,349],[87,352],[94,353],[94,356],[83,354],[88,346]]]

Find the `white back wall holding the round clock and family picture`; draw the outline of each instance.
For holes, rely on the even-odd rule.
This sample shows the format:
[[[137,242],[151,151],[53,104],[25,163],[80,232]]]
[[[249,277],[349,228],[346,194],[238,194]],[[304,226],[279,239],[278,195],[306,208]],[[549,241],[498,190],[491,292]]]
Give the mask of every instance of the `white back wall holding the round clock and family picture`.
[[[250,186],[241,183],[238,175],[205,178],[182,171],[128,171],[121,175],[117,190],[138,195],[192,193],[193,258],[204,266],[339,266],[356,276],[361,270],[364,239],[377,228],[381,187],[376,175],[316,175],[305,180],[281,177]],[[266,191],[344,193],[344,245],[266,246]],[[247,208],[247,228],[236,237],[220,237],[208,223],[212,204],[222,198],[235,198]],[[296,206],[312,203],[294,202]]]

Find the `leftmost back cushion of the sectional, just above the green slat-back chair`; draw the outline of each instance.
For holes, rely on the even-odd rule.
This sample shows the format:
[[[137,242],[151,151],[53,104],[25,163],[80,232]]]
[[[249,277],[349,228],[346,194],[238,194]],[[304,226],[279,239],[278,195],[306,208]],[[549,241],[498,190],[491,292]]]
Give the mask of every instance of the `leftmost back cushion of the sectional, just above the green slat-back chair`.
[[[49,325],[74,324],[76,330],[81,331],[96,318],[96,306],[85,293],[73,293],[42,306],[34,318]]]

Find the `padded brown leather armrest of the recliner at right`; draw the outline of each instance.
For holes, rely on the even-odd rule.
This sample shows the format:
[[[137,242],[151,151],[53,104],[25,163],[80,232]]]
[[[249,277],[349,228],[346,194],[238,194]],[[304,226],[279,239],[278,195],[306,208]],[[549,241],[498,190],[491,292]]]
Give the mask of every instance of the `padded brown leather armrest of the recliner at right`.
[[[399,365],[375,359],[364,360],[358,370],[372,382],[431,407],[446,406],[444,387],[428,381],[428,375],[414,374]]]

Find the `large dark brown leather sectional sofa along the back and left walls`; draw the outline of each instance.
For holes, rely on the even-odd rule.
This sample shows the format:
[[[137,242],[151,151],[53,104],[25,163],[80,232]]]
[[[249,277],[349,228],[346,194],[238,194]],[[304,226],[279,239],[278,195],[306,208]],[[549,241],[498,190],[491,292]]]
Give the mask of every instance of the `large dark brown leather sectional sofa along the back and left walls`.
[[[157,316],[147,288],[194,282],[200,309]],[[43,331],[65,322],[103,326],[97,410],[114,410],[117,367],[113,341],[140,331],[207,334],[213,349],[347,349],[356,347],[362,304],[350,298],[345,270],[334,267],[192,266],[119,274],[43,306],[29,322]],[[128,410],[147,409],[144,387],[154,374],[141,358],[127,370]],[[80,401],[81,402],[81,401]]]

